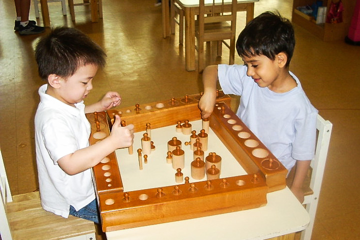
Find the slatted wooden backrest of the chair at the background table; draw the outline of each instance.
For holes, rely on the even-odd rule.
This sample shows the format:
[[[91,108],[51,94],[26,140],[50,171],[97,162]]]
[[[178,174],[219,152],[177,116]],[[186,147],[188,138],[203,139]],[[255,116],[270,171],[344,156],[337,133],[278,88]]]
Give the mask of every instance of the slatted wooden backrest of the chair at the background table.
[[[210,2],[208,2],[210,1]],[[204,35],[204,26],[208,23],[219,24],[221,22],[228,22],[230,24],[229,32],[235,34],[236,31],[236,5],[237,0],[199,0],[199,15],[198,15],[198,31],[199,35]],[[215,35],[213,33],[212,35]],[[223,33],[222,33],[223,35]],[[221,38],[220,38],[221,39]],[[227,39],[227,38],[222,38]]]

